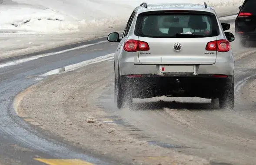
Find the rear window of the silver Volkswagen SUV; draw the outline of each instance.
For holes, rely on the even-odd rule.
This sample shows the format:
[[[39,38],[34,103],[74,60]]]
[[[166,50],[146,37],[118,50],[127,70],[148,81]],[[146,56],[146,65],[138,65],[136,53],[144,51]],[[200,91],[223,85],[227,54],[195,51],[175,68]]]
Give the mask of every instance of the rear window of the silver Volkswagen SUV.
[[[135,35],[162,38],[211,37],[219,35],[219,26],[215,15],[142,13],[136,21]]]

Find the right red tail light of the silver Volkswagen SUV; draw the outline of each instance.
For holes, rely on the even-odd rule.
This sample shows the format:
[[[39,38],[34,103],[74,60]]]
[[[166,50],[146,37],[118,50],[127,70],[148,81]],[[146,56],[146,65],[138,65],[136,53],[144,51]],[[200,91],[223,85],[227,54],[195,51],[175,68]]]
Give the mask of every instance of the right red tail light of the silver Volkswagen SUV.
[[[211,41],[207,43],[205,50],[228,52],[230,50],[230,44],[228,40]]]

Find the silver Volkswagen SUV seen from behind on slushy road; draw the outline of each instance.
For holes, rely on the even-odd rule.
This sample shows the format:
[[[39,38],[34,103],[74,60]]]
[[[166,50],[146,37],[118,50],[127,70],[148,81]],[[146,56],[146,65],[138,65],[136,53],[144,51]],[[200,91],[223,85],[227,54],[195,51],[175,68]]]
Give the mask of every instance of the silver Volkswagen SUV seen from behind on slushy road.
[[[114,57],[115,102],[156,96],[219,99],[234,107],[235,40],[207,4],[142,3],[131,14]]]

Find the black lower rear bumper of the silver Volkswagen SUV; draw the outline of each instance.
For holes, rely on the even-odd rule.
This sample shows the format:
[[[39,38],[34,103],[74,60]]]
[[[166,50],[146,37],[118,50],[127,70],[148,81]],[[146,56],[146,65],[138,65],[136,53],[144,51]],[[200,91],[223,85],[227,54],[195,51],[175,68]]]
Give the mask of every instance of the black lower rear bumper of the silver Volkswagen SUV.
[[[232,85],[233,76],[199,74],[195,76],[125,75],[122,88],[134,98],[171,95],[173,97],[218,98],[223,87]]]

